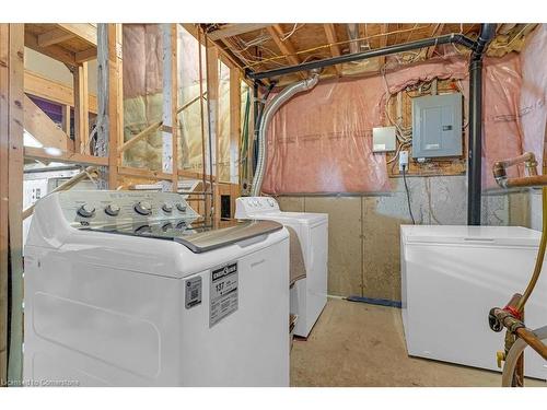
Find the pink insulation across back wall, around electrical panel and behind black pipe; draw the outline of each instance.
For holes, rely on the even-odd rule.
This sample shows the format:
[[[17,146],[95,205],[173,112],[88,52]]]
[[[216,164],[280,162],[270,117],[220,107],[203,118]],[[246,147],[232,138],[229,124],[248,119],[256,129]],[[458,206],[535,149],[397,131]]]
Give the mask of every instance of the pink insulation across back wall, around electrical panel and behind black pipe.
[[[270,124],[263,190],[275,195],[389,190],[385,154],[372,153],[372,128],[387,124],[386,90],[396,93],[434,78],[465,80],[466,112],[467,70],[466,58],[449,57],[407,66],[385,78],[322,81],[312,91],[299,94],[281,107]],[[516,122],[519,56],[486,59],[484,79],[482,180],[484,188],[492,188],[492,163],[522,152]]]

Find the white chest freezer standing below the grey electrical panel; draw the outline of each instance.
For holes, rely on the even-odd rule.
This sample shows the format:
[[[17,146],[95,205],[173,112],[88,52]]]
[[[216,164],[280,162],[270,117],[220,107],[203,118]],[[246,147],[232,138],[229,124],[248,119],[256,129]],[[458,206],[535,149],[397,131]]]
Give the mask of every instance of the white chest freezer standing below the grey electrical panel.
[[[500,371],[504,331],[488,326],[492,307],[522,293],[540,233],[520,226],[401,225],[403,324],[409,355]],[[547,324],[547,271],[525,308],[526,326]],[[547,379],[547,362],[525,351],[525,375]]]

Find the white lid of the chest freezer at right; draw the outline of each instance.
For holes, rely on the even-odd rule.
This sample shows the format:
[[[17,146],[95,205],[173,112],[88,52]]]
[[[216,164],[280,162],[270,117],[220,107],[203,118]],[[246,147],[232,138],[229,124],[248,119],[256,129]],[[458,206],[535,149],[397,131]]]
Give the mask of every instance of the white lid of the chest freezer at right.
[[[404,243],[459,244],[481,246],[539,245],[542,234],[522,226],[401,225]]]

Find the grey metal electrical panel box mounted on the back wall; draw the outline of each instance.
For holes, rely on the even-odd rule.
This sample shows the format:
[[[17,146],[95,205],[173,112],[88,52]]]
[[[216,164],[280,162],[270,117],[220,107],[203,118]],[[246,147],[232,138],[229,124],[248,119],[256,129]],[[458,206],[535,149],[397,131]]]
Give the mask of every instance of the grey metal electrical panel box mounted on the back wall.
[[[412,157],[462,155],[462,94],[412,98]]]

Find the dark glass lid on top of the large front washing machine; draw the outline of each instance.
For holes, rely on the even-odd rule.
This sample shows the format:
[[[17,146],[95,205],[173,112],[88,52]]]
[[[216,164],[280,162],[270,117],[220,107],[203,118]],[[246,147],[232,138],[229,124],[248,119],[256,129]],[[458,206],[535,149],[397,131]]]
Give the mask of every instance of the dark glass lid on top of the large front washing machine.
[[[174,241],[195,254],[230,246],[238,242],[268,235],[283,227],[275,221],[245,221],[234,226],[214,229],[202,218],[194,220],[158,220],[82,226],[79,230],[109,234]]]

